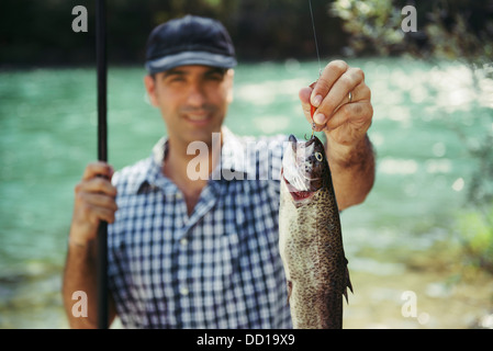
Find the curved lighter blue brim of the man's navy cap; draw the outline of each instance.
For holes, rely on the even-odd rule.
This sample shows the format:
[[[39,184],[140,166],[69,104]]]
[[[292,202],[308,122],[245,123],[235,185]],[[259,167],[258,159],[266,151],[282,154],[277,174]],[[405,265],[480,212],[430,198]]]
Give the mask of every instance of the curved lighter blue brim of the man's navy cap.
[[[233,68],[237,65],[237,61],[232,56],[224,56],[221,54],[213,54],[209,52],[186,52],[148,60],[145,66],[149,73],[157,73],[186,65]]]

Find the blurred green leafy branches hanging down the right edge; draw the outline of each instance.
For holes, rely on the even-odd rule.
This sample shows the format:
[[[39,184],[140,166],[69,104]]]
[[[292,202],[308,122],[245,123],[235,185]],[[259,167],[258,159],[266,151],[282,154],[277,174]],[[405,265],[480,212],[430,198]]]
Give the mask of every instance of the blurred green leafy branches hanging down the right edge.
[[[417,32],[401,30],[400,0],[336,0],[332,13],[344,20],[350,33],[350,50],[378,55],[405,54],[434,60],[460,61],[470,68],[477,97],[488,95],[493,86],[493,3],[490,0],[434,0],[414,3]],[[491,98],[490,98],[491,99]],[[477,168],[467,178],[467,202],[471,212],[457,220],[463,253],[474,265],[493,273],[493,110],[482,103],[480,115],[445,123],[457,131]],[[480,103],[475,101],[475,103]],[[478,105],[479,107],[479,105]],[[482,132],[463,128],[474,120]]]

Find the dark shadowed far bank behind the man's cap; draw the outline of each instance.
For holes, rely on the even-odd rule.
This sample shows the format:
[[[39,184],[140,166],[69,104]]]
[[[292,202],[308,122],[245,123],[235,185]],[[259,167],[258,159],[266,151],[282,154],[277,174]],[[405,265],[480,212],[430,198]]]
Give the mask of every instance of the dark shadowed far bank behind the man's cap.
[[[347,35],[330,19],[327,0],[312,0],[322,56],[338,54]],[[93,65],[96,2],[3,0],[0,11],[0,67]],[[74,33],[71,9],[88,10],[88,33]],[[110,64],[138,64],[158,24],[186,14],[220,20],[229,31],[240,61],[315,59],[309,0],[119,0],[107,1]]]

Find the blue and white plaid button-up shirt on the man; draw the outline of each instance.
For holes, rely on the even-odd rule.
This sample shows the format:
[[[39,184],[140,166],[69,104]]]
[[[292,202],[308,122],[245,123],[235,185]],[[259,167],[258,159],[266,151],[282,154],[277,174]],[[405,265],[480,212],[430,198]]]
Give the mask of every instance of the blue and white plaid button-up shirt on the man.
[[[115,173],[109,284],[124,327],[292,327],[278,248],[285,139],[223,128],[215,172],[224,177],[210,178],[190,216],[161,172],[165,138],[148,159]]]

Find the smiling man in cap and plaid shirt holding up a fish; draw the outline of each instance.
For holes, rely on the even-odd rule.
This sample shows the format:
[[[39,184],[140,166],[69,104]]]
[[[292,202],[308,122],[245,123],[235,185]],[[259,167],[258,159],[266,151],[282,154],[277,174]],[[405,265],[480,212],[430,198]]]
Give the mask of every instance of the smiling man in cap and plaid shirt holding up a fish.
[[[291,327],[278,250],[280,183],[260,174],[266,165],[269,174],[279,172],[282,148],[270,149],[269,160],[250,150],[254,174],[236,162],[246,139],[222,127],[235,65],[229,35],[216,21],[188,15],[152,32],[144,82],[168,137],[114,177],[111,166],[90,163],[76,186],[63,287],[71,327],[96,325],[100,220],[110,223],[111,319],[117,315],[131,328]],[[314,122],[327,137],[340,210],[361,203],[373,183],[372,107],[363,79],[360,69],[337,60],[300,91],[310,122],[311,104],[317,107]],[[259,138],[260,145],[283,139]],[[188,152],[193,141],[208,152]],[[190,177],[198,158],[209,165],[209,178]],[[246,176],[212,177],[216,171]],[[71,314],[75,291],[88,295],[87,318]]]

